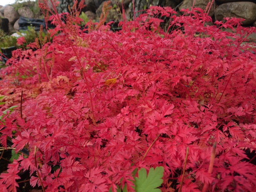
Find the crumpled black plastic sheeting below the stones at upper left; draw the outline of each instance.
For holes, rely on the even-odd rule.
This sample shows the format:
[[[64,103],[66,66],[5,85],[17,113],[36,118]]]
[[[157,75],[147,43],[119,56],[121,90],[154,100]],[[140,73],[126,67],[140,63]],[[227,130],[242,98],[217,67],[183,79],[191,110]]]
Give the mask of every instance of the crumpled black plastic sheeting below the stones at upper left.
[[[36,31],[39,31],[40,26],[42,25],[43,28],[46,28],[44,19],[31,19],[20,16],[20,19],[18,21],[19,23],[19,30],[27,30],[28,26],[35,27]],[[53,28],[54,26],[50,24],[50,22],[47,24],[48,28]]]

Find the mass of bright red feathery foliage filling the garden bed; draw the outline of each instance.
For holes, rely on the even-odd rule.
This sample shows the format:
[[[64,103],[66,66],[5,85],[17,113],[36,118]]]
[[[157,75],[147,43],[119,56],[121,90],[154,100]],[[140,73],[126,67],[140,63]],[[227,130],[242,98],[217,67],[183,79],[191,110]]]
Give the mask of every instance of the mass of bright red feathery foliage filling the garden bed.
[[[89,33],[75,12],[65,23],[55,14],[52,43],[41,37],[30,45],[37,50],[13,51],[2,111],[23,90],[22,111],[3,117],[0,142],[29,156],[9,164],[0,190],[16,191],[29,170],[31,186],[45,191],[134,191],[135,168],[163,166],[162,191],[254,191],[256,51],[244,42],[255,28],[183,13],[152,6],[121,31],[90,22]]]

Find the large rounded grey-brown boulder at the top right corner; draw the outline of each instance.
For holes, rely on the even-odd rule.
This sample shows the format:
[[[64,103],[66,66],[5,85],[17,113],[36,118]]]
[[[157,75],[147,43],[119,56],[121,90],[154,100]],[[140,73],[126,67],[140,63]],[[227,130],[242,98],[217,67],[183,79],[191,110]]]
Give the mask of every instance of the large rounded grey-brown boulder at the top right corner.
[[[224,17],[236,17],[245,19],[242,23],[250,25],[256,21],[256,4],[252,2],[231,2],[219,5],[215,9],[216,20]]]

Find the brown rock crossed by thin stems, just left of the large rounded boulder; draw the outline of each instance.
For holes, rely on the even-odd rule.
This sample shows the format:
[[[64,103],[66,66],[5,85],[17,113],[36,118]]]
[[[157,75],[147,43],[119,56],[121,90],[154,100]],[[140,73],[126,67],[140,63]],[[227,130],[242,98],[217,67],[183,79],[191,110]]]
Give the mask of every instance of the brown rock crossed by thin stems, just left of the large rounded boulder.
[[[199,7],[199,8],[204,10],[206,8],[208,2],[209,2],[209,0],[196,0],[195,4],[194,4],[194,7]],[[193,1],[192,0],[184,0],[182,2],[182,4],[180,5],[179,9],[180,10],[181,9],[190,9],[192,7],[192,5],[193,5]],[[214,4],[212,4],[212,7],[211,7],[210,12],[208,14],[211,17],[214,14],[214,7],[213,6],[214,6]],[[207,12],[208,12],[208,10],[207,10]]]

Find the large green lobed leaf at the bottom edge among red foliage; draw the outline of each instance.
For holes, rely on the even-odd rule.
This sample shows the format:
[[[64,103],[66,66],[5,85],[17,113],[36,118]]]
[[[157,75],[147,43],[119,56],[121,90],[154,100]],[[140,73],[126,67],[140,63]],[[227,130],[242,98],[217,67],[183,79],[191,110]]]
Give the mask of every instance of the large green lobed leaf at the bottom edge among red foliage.
[[[135,177],[135,191],[136,192],[161,192],[158,187],[163,183],[164,167],[151,167],[148,172],[142,168],[138,172],[138,177]]]

